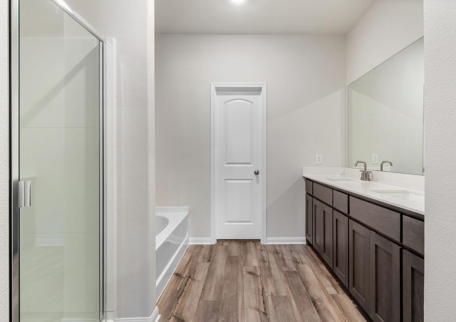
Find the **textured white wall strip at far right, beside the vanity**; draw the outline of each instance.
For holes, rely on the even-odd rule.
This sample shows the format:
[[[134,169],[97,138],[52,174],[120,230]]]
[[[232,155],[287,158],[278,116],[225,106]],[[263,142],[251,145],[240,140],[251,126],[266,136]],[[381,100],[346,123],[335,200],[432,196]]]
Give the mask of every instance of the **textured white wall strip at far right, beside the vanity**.
[[[456,319],[456,1],[424,0],[424,317]]]

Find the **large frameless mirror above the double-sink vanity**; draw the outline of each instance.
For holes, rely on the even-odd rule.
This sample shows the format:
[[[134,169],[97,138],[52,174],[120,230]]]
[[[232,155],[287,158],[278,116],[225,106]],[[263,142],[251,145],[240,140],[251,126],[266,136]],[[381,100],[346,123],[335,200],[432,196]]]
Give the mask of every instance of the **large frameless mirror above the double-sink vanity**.
[[[348,85],[348,166],[424,174],[424,41]],[[382,164],[383,162],[383,164]]]

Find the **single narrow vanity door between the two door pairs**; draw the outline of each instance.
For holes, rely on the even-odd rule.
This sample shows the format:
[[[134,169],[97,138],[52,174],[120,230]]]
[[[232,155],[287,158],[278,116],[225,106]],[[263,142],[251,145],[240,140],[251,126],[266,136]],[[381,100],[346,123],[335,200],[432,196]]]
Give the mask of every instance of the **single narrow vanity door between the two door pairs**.
[[[348,217],[333,212],[333,270],[348,287]]]

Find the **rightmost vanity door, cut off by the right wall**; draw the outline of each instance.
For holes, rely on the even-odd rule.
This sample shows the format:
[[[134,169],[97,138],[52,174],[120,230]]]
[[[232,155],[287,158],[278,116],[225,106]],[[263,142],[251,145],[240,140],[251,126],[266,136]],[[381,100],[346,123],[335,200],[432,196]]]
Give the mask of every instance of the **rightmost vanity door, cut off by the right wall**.
[[[402,250],[403,322],[424,321],[424,260]]]

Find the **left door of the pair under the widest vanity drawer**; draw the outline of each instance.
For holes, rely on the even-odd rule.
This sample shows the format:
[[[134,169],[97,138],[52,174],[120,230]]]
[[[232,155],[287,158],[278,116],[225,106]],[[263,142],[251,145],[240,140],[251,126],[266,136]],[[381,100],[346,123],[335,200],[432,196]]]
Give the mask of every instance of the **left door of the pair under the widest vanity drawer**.
[[[348,290],[367,312],[370,305],[369,239],[370,230],[348,220]]]

